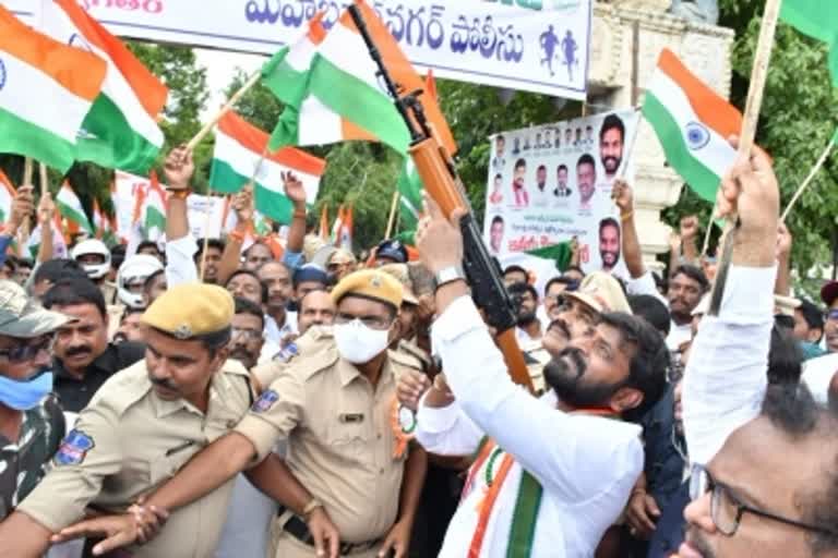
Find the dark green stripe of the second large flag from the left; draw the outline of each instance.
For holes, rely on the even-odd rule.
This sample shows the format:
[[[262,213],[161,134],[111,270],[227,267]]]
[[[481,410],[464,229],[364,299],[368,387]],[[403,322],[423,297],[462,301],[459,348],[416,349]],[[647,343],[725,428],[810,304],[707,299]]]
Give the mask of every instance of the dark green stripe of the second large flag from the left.
[[[80,137],[76,143],[76,158],[82,161],[145,174],[160,153],[159,146],[131,128],[119,107],[104,94],[94,101],[82,128],[94,136]]]

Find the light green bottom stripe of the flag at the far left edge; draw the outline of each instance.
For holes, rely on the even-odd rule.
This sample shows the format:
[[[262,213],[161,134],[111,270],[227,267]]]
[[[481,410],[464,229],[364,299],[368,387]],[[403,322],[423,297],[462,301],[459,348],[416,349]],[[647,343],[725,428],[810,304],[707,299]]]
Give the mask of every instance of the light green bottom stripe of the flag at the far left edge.
[[[73,166],[75,146],[48,130],[0,108],[0,153],[32,157],[65,173]]]

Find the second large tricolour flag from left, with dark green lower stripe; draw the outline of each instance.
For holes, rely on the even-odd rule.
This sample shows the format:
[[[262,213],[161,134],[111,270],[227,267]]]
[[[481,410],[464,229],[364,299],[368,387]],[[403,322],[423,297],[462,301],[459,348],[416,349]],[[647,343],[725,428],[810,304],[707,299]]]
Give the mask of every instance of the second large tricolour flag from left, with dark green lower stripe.
[[[41,0],[38,28],[53,39],[93,52],[107,63],[101,94],[84,119],[76,158],[144,174],[163,147],[157,116],[166,86],[75,0]]]

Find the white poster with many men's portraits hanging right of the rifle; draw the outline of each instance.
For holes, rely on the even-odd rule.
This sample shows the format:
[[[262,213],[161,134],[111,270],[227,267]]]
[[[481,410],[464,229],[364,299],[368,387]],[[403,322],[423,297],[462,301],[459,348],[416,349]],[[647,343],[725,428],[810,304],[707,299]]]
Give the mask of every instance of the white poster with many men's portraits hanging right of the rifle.
[[[492,136],[483,223],[490,251],[506,263],[576,236],[586,272],[625,276],[611,183],[628,163],[637,120],[630,110]]]

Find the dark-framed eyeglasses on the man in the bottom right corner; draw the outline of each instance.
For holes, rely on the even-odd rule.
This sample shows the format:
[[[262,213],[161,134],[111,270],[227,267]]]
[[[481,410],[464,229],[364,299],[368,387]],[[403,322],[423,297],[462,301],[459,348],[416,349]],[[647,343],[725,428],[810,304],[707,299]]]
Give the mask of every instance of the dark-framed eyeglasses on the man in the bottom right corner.
[[[733,536],[737,533],[739,524],[742,521],[742,515],[745,513],[753,513],[761,518],[779,521],[780,523],[786,523],[787,525],[804,529],[806,531],[814,531],[831,536],[838,535],[837,531],[827,527],[811,525],[794,519],[783,518],[782,515],[777,515],[769,511],[764,511],[747,506],[746,504],[742,504],[730,487],[716,482],[704,466],[698,464],[693,465],[693,474],[690,477],[690,497],[693,500],[696,500],[709,492],[713,493],[710,495],[710,517],[713,523],[725,536]]]

